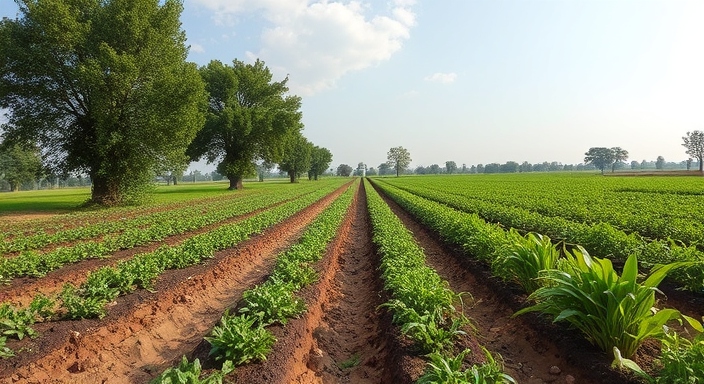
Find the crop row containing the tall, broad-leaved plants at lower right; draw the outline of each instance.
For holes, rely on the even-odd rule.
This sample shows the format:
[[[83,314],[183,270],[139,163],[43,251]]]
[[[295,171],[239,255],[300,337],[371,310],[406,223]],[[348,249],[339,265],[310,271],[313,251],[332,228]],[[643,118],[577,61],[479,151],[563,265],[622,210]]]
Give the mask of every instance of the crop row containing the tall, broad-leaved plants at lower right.
[[[649,368],[658,371],[651,377],[653,382],[704,380],[702,365],[684,358],[701,353],[702,336],[675,345],[670,340],[681,338],[667,326],[671,321],[685,320],[702,332],[701,324],[675,309],[655,307],[658,284],[687,263],[657,266],[639,281],[636,255],[626,259],[619,276],[610,260],[591,257],[580,246],[560,250],[546,236],[507,232],[475,214],[389,185],[378,186],[445,241],[489,264],[498,277],[523,287],[532,305],[516,315],[536,311],[551,315],[555,322],[566,321],[604,352],[613,353],[615,365],[630,367],[642,375],[645,372],[629,358],[644,340],[658,339],[664,348],[659,365]],[[682,376],[683,371],[689,373]],[[683,377],[695,381],[678,381]]]

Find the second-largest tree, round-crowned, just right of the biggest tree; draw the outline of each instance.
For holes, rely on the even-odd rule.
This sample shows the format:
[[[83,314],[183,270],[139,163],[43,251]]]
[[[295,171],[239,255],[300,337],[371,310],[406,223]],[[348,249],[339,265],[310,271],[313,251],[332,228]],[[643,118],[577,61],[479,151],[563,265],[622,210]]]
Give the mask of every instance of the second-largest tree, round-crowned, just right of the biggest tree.
[[[217,60],[202,67],[209,93],[203,130],[189,148],[192,160],[219,161],[217,170],[230,179],[230,189],[254,175],[256,161],[278,163],[286,139],[301,128],[301,98],[286,95],[288,78],[272,81],[263,61],[229,66]]]

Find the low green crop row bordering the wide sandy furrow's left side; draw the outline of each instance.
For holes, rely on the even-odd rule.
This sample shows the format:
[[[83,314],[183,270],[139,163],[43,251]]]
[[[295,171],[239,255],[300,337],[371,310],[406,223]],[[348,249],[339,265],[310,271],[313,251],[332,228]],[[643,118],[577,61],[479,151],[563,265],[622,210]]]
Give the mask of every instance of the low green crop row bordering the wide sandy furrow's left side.
[[[193,236],[180,245],[163,245],[153,252],[138,254],[132,259],[121,261],[116,266],[100,268],[91,272],[79,286],[67,283],[55,297],[48,298],[38,294],[34,301],[42,303],[41,312],[21,316],[27,313],[27,308],[13,307],[9,303],[2,304],[7,311],[4,317],[0,317],[0,332],[13,336],[16,329],[31,328],[36,321],[102,318],[106,314],[106,305],[119,295],[138,288],[153,289],[156,279],[165,270],[186,268],[212,258],[215,252],[234,247],[261,233],[328,195],[335,188],[339,186],[330,184],[240,222],[225,224],[207,233]],[[20,318],[23,319],[22,323],[11,321]],[[32,335],[31,331],[24,333]]]

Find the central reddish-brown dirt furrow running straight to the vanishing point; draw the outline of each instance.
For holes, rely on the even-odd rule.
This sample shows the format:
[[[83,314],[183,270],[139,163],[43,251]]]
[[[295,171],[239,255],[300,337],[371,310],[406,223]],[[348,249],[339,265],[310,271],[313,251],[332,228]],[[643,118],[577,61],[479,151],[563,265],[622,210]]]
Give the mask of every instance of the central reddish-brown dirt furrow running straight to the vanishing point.
[[[397,383],[394,333],[377,307],[385,301],[371,243],[363,187],[318,263],[319,282],[303,290],[308,311],[273,329],[266,361],[238,368],[238,383]]]

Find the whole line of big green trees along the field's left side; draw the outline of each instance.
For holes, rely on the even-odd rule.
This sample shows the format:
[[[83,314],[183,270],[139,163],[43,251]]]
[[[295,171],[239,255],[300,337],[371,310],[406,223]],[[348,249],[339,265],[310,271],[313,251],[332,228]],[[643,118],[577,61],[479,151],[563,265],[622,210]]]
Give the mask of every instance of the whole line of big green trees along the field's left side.
[[[303,137],[288,78],[273,80],[260,60],[186,60],[179,0],[18,5],[17,19],[0,21],[0,174],[13,188],[85,175],[91,200],[115,205],[202,158],[231,189],[257,167],[278,164],[295,181],[332,161]]]

